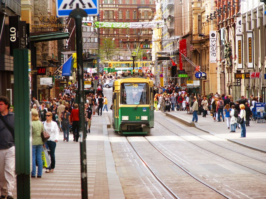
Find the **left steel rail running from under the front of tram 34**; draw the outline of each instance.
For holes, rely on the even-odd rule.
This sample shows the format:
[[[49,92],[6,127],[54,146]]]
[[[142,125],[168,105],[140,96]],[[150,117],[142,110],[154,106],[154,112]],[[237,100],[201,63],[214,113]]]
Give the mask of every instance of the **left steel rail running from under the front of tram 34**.
[[[142,162],[142,164],[147,168],[147,170],[149,171],[149,173],[151,174],[151,176],[155,179],[155,181],[164,189],[165,192],[167,192],[167,194],[173,198],[173,199],[180,199],[180,197],[178,197],[167,185],[165,185],[163,183],[163,181],[155,174],[155,172],[151,169],[151,167],[147,164],[147,162],[141,157],[141,155],[138,153],[138,151],[136,150],[136,148],[131,144],[131,142],[128,140],[128,137],[126,137],[128,143],[130,144],[130,146],[132,147],[133,151],[135,152],[135,154],[139,157],[140,161]]]

